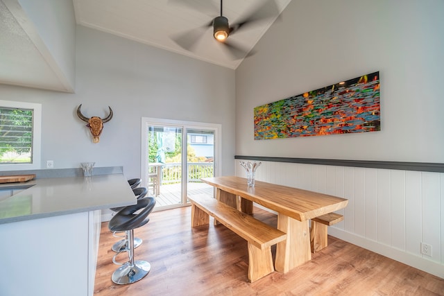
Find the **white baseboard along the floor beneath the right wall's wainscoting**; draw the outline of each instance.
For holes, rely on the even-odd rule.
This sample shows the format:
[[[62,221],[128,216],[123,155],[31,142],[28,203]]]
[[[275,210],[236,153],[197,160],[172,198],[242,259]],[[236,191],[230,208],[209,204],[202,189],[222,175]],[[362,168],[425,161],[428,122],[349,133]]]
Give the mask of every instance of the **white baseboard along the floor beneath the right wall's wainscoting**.
[[[350,232],[345,232],[334,226],[328,227],[328,234],[444,279],[444,266],[440,263],[430,261],[416,254],[405,252],[404,250],[395,249],[388,245],[382,245],[377,241],[371,241],[367,238],[351,234]]]

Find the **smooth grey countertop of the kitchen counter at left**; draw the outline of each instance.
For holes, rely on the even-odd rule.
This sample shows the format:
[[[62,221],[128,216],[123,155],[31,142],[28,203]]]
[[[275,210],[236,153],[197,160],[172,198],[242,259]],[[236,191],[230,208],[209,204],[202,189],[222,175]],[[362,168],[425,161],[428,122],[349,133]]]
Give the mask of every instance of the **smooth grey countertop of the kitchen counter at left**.
[[[136,204],[123,174],[50,177],[1,186],[27,189],[0,200],[0,224]]]

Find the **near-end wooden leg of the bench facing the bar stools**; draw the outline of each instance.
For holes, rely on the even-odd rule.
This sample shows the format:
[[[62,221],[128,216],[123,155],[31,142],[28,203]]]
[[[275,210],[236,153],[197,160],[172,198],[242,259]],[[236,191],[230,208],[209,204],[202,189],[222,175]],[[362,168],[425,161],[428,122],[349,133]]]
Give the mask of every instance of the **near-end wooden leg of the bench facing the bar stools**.
[[[248,243],[248,281],[252,282],[275,271],[271,247],[259,249]]]

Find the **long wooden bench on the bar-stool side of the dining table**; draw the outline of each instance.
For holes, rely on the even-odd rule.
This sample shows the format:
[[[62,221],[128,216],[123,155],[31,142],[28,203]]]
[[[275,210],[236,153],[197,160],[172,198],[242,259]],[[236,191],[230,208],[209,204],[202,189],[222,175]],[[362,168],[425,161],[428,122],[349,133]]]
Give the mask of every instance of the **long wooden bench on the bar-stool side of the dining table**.
[[[284,241],[287,234],[210,195],[192,195],[188,199],[191,202],[191,227],[209,225],[212,216],[248,242],[248,281],[256,281],[275,271],[271,246]]]

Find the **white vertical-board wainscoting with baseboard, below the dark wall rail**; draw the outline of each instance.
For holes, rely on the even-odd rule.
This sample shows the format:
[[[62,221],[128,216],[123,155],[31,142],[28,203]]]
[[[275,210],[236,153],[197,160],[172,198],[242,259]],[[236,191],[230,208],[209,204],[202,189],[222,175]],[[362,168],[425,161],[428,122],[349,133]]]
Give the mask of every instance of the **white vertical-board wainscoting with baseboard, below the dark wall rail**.
[[[347,198],[329,234],[444,278],[444,173],[262,161],[256,180]]]

